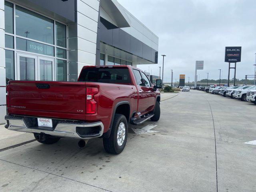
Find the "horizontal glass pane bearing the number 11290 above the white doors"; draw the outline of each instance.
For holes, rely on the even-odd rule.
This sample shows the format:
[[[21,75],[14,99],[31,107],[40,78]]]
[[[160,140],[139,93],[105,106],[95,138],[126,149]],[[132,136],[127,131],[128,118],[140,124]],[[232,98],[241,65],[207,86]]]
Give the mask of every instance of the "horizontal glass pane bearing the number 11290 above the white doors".
[[[48,56],[54,56],[54,47],[42,43],[16,38],[16,49]]]

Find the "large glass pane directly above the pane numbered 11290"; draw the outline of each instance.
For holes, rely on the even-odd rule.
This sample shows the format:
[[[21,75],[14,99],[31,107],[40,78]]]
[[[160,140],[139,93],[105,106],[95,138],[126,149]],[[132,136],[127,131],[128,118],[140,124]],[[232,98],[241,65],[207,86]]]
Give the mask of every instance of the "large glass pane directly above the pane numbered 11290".
[[[16,5],[16,35],[54,44],[54,21]]]

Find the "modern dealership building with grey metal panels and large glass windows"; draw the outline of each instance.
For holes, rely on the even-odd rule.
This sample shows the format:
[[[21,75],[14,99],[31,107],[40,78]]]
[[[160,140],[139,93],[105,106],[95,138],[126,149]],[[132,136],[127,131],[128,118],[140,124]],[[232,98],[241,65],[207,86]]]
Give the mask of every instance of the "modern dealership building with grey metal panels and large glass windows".
[[[9,80],[76,81],[87,65],[157,62],[158,37],[117,0],[0,0],[0,123]]]

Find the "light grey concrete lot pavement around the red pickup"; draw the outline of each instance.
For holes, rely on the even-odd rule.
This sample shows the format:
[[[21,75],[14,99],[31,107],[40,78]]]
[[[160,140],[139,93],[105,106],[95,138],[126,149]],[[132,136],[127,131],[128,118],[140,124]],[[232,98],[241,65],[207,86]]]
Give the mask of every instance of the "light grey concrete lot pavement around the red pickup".
[[[256,140],[254,104],[191,90],[160,106],[158,122],[129,126],[117,156],[100,139],[83,149],[61,139],[1,151],[0,191],[256,191],[256,145],[244,144]]]

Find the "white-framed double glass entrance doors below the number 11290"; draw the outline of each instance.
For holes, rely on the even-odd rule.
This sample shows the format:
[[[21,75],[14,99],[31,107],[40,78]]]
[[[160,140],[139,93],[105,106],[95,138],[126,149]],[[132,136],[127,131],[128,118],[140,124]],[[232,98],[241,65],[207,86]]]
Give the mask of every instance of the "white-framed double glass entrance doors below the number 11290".
[[[54,81],[56,80],[54,59],[17,53],[17,79]]]

